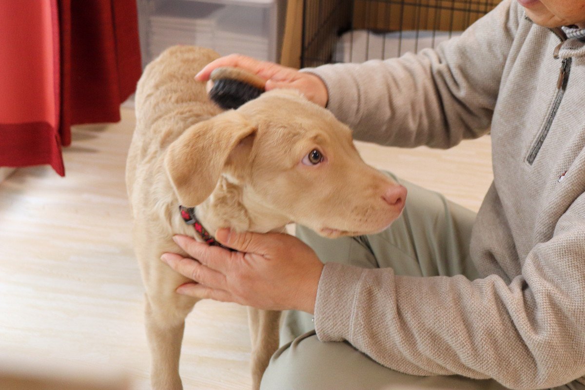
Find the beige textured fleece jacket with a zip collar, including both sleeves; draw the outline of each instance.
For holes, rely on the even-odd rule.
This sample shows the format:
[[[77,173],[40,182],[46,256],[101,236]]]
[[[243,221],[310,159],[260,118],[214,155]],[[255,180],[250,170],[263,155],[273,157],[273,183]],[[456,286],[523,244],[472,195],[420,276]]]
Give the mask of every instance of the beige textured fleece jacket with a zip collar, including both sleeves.
[[[326,264],[319,340],[347,340],[408,374],[512,389],[583,377],[585,44],[504,0],[437,50],[308,71],[356,139],[447,148],[491,125],[493,142],[494,182],[470,247],[483,278]]]

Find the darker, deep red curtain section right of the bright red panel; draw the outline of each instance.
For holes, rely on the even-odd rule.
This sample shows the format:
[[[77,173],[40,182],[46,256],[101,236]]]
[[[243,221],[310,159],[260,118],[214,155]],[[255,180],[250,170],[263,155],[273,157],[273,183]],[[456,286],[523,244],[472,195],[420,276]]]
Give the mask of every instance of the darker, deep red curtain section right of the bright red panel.
[[[136,0],[66,2],[71,5],[71,123],[118,122],[120,103],[134,92],[142,70]]]

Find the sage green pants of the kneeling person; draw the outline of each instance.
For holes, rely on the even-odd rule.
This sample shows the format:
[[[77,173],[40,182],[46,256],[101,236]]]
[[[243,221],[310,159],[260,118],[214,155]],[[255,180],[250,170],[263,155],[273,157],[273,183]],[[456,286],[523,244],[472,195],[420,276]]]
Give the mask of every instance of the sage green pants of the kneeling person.
[[[384,232],[331,240],[298,226],[297,237],[324,263],[392,267],[396,275],[479,277],[469,261],[476,214],[436,192],[400,182],[408,189],[406,206]],[[402,374],[376,363],[347,342],[322,343],[311,319],[308,313],[285,313],[282,347],[270,361],[262,390],[505,389],[493,380]],[[585,386],[574,383],[558,389],[583,390]]]

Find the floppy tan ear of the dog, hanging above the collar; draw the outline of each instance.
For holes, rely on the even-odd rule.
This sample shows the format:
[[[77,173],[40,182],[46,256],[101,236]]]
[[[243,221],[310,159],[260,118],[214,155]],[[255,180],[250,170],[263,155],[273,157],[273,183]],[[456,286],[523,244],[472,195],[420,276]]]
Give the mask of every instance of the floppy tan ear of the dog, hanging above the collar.
[[[230,110],[191,126],[173,141],[164,166],[180,204],[193,207],[205,201],[232,150],[255,131],[240,113]]]

